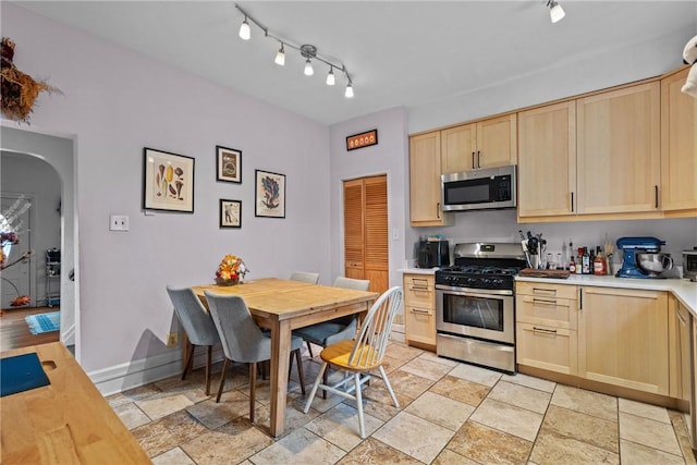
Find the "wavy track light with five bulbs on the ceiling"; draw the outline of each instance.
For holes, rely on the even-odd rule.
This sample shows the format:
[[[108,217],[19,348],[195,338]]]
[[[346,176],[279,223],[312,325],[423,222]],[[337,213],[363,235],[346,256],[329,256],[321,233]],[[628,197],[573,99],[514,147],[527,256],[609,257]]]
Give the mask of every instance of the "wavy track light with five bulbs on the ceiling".
[[[552,0],[549,0],[549,1],[552,1]],[[276,59],[273,60],[276,62],[276,64],[278,64],[280,66],[283,66],[285,64],[285,48],[284,47],[290,47],[290,48],[292,48],[294,50],[299,51],[301,56],[305,59],[304,73],[305,73],[306,76],[311,76],[313,74],[315,74],[315,70],[313,69],[313,60],[321,61],[322,63],[329,65],[329,74],[327,74],[327,81],[326,81],[328,86],[333,86],[334,83],[335,83],[334,69],[340,70],[344,74],[344,76],[346,77],[346,81],[347,81],[346,90],[344,93],[344,96],[346,98],[352,98],[353,97],[353,81],[351,79],[351,75],[348,74],[348,70],[346,70],[346,66],[343,63],[334,62],[334,61],[329,60],[328,58],[323,58],[323,57],[318,56],[317,54],[317,47],[315,47],[314,45],[304,44],[302,46],[296,46],[293,42],[290,42],[290,41],[285,40],[284,38],[276,36],[274,34],[269,32],[269,29],[266,26],[264,26],[257,20],[252,17],[249,15],[249,13],[247,13],[244,9],[242,9],[242,7],[240,7],[237,3],[235,3],[235,8],[237,10],[240,10],[240,12],[244,15],[244,22],[242,23],[242,26],[240,26],[240,37],[242,39],[249,40],[249,37],[252,36],[250,30],[249,30],[249,22],[252,22],[254,25],[256,25],[258,28],[260,28],[264,32],[264,36],[265,37],[269,37],[269,38],[278,41],[281,45],[281,48],[276,53]]]

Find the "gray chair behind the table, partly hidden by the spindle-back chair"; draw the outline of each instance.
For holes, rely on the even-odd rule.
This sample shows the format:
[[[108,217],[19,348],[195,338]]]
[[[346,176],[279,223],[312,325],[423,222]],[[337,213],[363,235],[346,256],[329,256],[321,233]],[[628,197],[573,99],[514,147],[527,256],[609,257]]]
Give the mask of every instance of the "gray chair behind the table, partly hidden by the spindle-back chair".
[[[369,286],[370,280],[339,277],[334,281],[334,287],[367,291]],[[339,317],[330,321],[322,321],[320,323],[310,325],[305,328],[298,328],[293,331],[293,334],[305,340],[309,356],[313,357],[313,347],[310,344],[326,347],[339,341],[353,339],[356,335],[357,321],[358,319],[356,315],[346,315],[345,317]],[[327,383],[328,376],[329,370],[326,370],[325,383]],[[326,399],[327,391],[323,391],[322,395]]]

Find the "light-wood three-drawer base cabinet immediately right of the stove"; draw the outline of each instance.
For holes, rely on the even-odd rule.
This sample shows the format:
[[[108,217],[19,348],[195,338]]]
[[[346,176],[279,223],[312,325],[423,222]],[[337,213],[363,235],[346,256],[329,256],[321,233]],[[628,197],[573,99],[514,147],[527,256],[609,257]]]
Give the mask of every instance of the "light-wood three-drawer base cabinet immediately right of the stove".
[[[577,374],[577,287],[547,283],[516,284],[516,362]]]

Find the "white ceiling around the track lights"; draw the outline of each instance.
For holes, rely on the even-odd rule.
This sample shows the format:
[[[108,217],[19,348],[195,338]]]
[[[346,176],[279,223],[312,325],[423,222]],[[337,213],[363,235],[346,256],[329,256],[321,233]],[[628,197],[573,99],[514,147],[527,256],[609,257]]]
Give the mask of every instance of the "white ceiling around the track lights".
[[[343,63],[353,99],[340,73],[334,87],[325,85],[326,64],[304,76],[295,50],[286,48],[285,66],[274,64],[279,42],[255,25],[250,40],[240,39],[244,16],[232,1],[19,3],[325,124],[437,105],[673,30],[697,32],[694,0],[560,2],[566,17],[557,24],[541,0],[239,2],[272,35]]]

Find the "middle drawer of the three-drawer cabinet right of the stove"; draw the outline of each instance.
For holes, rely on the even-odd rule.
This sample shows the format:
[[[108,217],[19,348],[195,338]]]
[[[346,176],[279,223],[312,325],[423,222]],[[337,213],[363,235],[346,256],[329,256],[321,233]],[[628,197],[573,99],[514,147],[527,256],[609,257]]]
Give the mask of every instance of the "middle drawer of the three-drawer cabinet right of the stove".
[[[578,328],[577,301],[568,298],[516,295],[515,319],[527,323],[547,325],[575,330]]]

